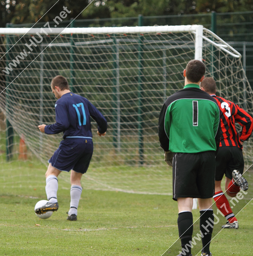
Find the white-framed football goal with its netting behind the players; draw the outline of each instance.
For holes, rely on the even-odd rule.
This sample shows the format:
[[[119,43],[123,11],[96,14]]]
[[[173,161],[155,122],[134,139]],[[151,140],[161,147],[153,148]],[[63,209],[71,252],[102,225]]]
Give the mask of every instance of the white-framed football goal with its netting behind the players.
[[[94,136],[91,171],[85,175],[89,189],[171,194],[158,117],[165,99],[183,89],[183,69],[191,59],[205,63],[218,95],[253,112],[240,53],[202,25],[0,28],[0,48],[0,111],[43,163],[62,138],[37,129],[55,122],[49,86],[54,76],[65,76],[71,90],[106,117],[106,138]],[[92,128],[95,134],[95,123]],[[244,148],[249,164],[251,139]]]

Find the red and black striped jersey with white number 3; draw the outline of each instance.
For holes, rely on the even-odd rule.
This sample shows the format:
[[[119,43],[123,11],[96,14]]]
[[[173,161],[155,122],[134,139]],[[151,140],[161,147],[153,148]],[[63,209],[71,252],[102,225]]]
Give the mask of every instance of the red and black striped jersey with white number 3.
[[[246,111],[229,100],[211,95],[215,98],[221,111],[221,142],[220,147],[234,146],[242,149],[241,141],[249,139],[253,129],[253,118]],[[238,133],[236,124],[242,126]]]

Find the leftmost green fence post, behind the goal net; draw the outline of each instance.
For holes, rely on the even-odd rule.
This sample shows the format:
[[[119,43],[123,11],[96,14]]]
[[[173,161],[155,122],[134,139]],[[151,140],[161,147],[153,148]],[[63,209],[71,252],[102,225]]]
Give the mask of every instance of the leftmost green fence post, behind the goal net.
[[[11,27],[11,24],[7,23],[6,24],[6,28]],[[9,35],[6,35],[6,52],[8,52],[10,50],[10,45],[11,45],[11,41],[9,38]],[[9,57],[9,53],[6,54],[6,66],[8,66],[9,61],[10,61],[10,57]],[[11,79],[9,77],[8,74],[5,75],[5,81],[6,81],[6,86],[9,85],[9,83],[11,82]],[[7,87],[5,89],[5,100],[6,100],[6,161],[10,161],[12,158],[12,153],[13,153],[13,141],[14,141],[14,131],[13,131],[13,127],[11,126],[11,123],[8,120],[8,115],[9,115],[9,88]]]

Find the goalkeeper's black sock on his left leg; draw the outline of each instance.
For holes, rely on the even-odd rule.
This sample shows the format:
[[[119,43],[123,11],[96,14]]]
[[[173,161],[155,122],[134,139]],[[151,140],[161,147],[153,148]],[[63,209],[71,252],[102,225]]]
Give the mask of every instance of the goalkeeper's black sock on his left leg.
[[[179,237],[181,239],[182,253],[185,256],[191,254],[191,241],[193,233],[193,217],[191,212],[179,213],[177,225],[179,227]],[[186,246],[185,246],[186,245]]]

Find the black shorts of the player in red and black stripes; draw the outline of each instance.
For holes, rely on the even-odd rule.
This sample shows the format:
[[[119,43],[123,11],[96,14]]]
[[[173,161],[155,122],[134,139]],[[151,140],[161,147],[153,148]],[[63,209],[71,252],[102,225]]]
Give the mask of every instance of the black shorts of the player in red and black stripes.
[[[216,156],[215,180],[222,180],[224,174],[232,180],[232,171],[238,170],[243,174],[244,160],[242,150],[238,147],[220,147]]]

